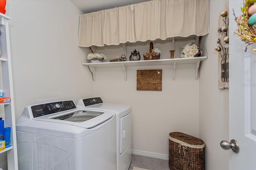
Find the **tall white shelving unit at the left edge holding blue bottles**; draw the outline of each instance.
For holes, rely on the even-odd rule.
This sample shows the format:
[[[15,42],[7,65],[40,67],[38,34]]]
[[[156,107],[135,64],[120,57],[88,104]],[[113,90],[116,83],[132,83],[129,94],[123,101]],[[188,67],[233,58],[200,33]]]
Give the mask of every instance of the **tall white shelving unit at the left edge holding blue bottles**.
[[[18,154],[17,154],[17,141],[16,141],[16,124],[14,113],[14,94],[12,84],[12,63],[10,54],[10,38],[9,38],[9,25],[8,20],[10,17],[0,13],[0,47],[1,57],[0,62],[2,64],[2,82],[3,92],[5,97],[10,97],[11,102],[0,103],[4,105],[4,121],[5,127],[11,127],[10,145],[2,151],[7,152],[8,170],[18,170]]]

